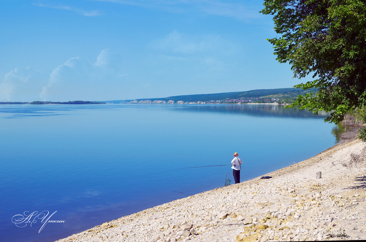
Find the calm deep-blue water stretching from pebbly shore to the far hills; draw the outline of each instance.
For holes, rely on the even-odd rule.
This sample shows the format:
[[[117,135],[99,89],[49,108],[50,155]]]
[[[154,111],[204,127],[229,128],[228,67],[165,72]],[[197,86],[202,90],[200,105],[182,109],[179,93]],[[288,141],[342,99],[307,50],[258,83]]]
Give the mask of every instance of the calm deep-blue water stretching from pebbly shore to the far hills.
[[[0,105],[1,237],[55,241],[224,186],[230,166],[169,169],[234,152],[242,181],[307,159],[336,143],[325,117],[281,105]],[[65,222],[17,227],[25,211]]]

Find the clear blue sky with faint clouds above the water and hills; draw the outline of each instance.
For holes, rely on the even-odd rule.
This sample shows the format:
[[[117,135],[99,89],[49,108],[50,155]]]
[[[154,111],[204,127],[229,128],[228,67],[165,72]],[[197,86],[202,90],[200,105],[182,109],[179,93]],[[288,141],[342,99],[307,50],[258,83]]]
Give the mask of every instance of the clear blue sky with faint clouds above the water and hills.
[[[292,87],[262,1],[0,3],[0,101],[102,101]]]

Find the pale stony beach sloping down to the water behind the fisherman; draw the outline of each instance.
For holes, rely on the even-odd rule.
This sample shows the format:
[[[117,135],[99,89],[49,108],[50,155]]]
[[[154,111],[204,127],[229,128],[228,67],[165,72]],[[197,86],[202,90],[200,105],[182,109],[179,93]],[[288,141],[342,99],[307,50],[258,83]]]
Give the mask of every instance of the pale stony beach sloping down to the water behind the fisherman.
[[[366,239],[365,154],[365,143],[345,141],[265,174],[270,179],[171,201],[59,242]]]

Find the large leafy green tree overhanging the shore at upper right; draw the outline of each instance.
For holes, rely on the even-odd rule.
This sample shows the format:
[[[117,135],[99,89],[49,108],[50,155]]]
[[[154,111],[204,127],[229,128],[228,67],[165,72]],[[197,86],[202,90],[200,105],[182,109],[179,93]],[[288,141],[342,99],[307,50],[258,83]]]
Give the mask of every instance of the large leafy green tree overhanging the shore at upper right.
[[[276,59],[288,61],[296,78],[313,75],[294,87],[317,92],[298,96],[291,106],[315,114],[333,111],[325,121],[335,123],[347,111],[366,106],[365,0],[265,0],[261,12],[273,15],[281,35],[268,39]]]

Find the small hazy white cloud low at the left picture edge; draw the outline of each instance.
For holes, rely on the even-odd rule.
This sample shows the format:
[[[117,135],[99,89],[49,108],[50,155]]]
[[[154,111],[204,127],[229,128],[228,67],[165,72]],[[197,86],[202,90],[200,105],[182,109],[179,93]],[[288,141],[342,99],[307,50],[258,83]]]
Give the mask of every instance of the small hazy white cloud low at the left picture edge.
[[[15,68],[0,84],[0,101],[31,102],[40,100],[47,76],[31,67]]]

